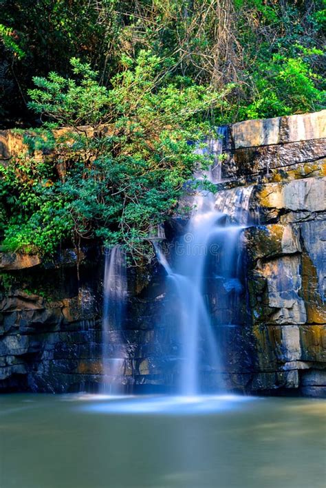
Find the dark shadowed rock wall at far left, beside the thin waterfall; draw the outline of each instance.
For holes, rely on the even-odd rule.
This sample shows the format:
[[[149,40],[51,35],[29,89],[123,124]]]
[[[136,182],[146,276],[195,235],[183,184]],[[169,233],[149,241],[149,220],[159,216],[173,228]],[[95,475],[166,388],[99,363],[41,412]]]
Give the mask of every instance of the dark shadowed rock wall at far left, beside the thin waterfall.
[[[63,392],[79,383],[98,329],[94,268],[28,268],[1,275],[0,391]]]

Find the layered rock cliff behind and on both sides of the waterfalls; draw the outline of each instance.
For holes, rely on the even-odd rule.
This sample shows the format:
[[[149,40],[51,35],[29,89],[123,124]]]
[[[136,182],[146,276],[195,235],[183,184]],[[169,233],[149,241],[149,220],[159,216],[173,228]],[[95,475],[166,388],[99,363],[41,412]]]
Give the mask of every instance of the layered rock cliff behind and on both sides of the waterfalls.
[[[228,129],[217,199],[248,187],[255,222],[243,231],[239,310],[224,308],[227,290],[218,282],[207,297],[213,324],[226,324],[215,332],[221,375],[232,390],[326,394],[325,114],[249,120]],[[22,143],[0,134],[6,164]],[[182,229],[182,222],[167,222],[168,240]],[[52,264],[37,256],[0,256],[1,390],[98,389],[103,261],[86,251],[83,257],[78,276],[74,251]],[[131,270],[127,323],[121,336],[107,332],[112,357],[121,355],[126,388],[175,384],[177,302],[167,300],[160,266]],[[208,388],[215,380],[207,375]]]

